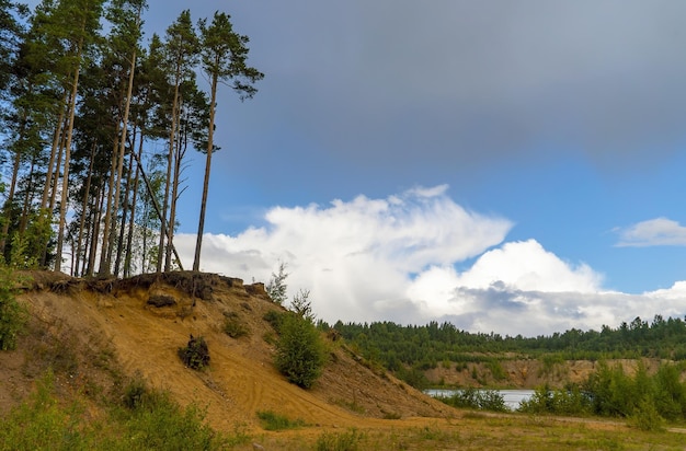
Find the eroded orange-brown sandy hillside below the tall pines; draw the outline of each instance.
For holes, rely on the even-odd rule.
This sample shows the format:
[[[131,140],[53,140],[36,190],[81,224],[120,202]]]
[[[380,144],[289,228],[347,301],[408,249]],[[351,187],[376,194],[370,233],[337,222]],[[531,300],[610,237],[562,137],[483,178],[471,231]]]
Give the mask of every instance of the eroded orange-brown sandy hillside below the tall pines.
[[[453,417],[456,410],[390,374],[370,369],[340,342],[311,390],[288,383],[273,366],[275,333],[263,320],[283,311],[262,284],[191,271],[130,279],[76,279],[30,273],[19,299],[28,307],[28,334],[15,351],[0,354],[0,406],[7,412],[31,392],[48,367],[58,394],[95,398],[137,374],[186,405],[207,406],[215,428],[256,430],[255,413],[273,410],[322,427],[359,427],[384,418]],[[160,305],[160,307],[156,307]],[[222,332],[227,316],[249,333]],[[208,343],[209,368],[179,359],[190,335]],[[93,415],[98,408],[93,404]]]

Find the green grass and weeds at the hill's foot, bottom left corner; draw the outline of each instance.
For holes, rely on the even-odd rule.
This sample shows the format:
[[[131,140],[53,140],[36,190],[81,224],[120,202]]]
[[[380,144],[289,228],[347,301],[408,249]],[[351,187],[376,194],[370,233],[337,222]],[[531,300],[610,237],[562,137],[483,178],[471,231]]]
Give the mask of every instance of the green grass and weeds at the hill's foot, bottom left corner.
[[[181,407],[165,392],[133,381],[122,404],[105,406],[103,417],[90,418],[87,400],[75,396],[65,404],[55,396],[52,371],[36,392],[0,418],[0,450],[220,450],[248,438],[214,431],[205,410]]]

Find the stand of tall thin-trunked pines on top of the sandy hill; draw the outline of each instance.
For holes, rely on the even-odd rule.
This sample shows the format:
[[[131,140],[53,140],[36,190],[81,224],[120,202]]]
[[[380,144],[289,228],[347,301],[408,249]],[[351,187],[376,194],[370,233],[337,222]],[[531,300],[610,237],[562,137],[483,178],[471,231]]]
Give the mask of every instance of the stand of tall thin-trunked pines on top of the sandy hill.
[[[264,76],[227,13],[185,10],[145,38],[147,12],[145,0],[0,0],[0,255],[12,266],[183,269],[176,206],[197,151],[199,268],[217,90],[247,100]]]

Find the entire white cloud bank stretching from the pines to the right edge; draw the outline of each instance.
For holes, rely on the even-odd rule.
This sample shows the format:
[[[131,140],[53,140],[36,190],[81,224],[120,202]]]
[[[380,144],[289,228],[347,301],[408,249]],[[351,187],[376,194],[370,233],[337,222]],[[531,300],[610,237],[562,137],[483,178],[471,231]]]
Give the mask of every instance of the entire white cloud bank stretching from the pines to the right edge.
[[[266,281],[278,261],[286,262],[290,296],[310,289],[315,312],[329,322],[436,320],[471,332],[535,336],[686,311],[686,281],[643,294],[604,290],[601,274],[564,262],[536,240],[501,244],[512,222],[465,210],[446,188],[275,207],[264,228],[206,234],[202,269]],[[176,238],[184,261],[194,244],[194,235]],[[471,267],[456,269],[472,257]]]

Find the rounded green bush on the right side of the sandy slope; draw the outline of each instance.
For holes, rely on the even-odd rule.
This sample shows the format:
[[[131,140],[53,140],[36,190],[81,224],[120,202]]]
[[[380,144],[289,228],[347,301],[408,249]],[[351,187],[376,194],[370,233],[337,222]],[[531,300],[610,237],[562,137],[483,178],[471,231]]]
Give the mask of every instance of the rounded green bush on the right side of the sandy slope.
[[[327,363],[324,342],[315,324],[295,313],[285,314],[275,363],[289,382],[304,389],[312,386]]]

